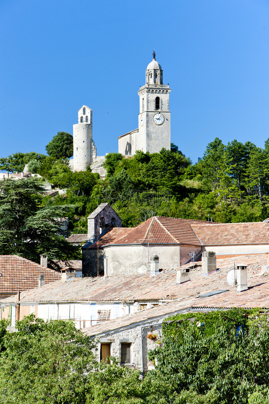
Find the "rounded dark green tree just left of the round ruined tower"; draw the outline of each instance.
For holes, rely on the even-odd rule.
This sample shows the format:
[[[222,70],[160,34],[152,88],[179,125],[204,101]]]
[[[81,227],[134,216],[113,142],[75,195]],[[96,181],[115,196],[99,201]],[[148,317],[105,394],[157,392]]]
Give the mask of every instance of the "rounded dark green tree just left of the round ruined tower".
[[[58,132],[46,145],[49,156],[56,159],[70,158],[73,156],[73,136],[67,132]]]

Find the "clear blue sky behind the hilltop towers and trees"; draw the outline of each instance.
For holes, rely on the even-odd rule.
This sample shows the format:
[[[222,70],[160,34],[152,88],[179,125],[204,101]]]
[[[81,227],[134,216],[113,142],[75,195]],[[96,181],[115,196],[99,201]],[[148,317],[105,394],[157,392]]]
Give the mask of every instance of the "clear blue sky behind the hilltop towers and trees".
[[[0,157],[46,153],[83,104],[98,155],[117,151],[138,127],[154,48],[171,87],[171,141],[185,151],[217,119],[186,150],[193,162],[215,137],[263,147],[268,21],[268,0],[0,0]]]

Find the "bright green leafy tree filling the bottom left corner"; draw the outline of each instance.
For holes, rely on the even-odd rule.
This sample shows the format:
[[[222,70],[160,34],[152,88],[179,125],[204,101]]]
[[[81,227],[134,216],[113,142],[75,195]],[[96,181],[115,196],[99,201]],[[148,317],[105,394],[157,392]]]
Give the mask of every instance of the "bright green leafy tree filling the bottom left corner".
[[[33,314],[17,329],[2,338],[0,402],[85,403],[85,386],[98,366],[94,340],[71,321],[44,322]]]

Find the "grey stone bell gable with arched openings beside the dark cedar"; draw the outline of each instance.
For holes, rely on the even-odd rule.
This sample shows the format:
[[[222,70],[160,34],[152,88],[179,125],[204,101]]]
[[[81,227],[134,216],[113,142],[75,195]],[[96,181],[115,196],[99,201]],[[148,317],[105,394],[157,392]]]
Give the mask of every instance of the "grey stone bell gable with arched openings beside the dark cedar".
[[[101,203],[88,216],[88,240],[97,240],[108,227],[121,227],[121,218],[108,203]]]

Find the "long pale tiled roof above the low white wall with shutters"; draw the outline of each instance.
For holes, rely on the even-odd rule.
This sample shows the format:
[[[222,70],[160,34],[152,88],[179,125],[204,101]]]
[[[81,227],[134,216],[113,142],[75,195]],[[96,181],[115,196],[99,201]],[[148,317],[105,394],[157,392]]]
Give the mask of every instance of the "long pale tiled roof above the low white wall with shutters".
[[[250,284],[252,277],[260,273],[258,268],[265,265],[267,254],[249,254],[244,256],[248,264],[248,278]],[[191,280],[183,284],[176,284],[175,269],[164,270],[156,276],[146,274],[113,275],[108,278],[74,278],[68,282],[53,282],[42,288],[21,293],[22,302],[65,302],[65,301],[158,301],[189,299],[200,293],[211,290],[229,289],[226,282],[226,273],[234,268],[234,261],[241,263],[242,259],[234,257],[218,259],[217,267],[211,275],[202,277],[199,267],[190,271]],[[259,278],[260,279],[260,278]],[[268,283],[269,286],[269,283]],[[13,301],[8,298],[5,301]]]

